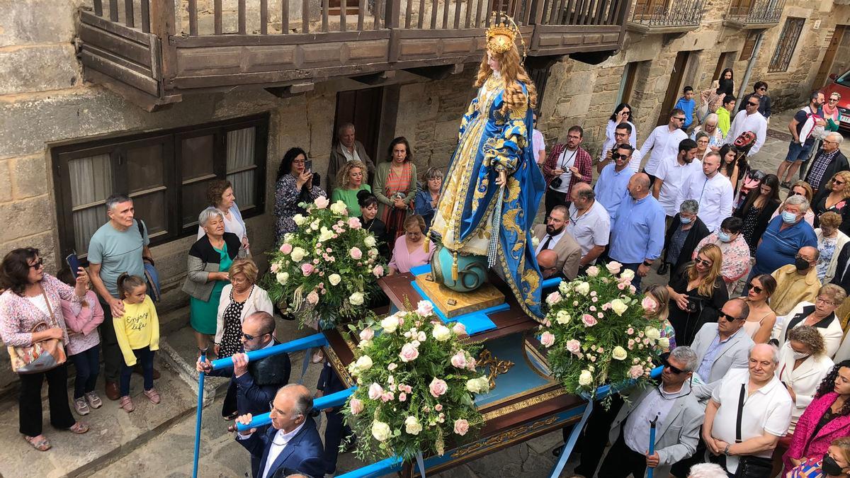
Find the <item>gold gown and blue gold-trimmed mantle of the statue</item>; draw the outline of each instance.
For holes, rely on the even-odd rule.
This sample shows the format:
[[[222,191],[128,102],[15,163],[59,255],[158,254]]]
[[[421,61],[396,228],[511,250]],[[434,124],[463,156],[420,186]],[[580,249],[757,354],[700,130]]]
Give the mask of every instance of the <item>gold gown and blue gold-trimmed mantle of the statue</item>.
[[[486,256],[499,214],[496,270],[525,312],[541,319],[541,274],[530,231],[546,183],[530,147],[532,111],[526,104],[505,117],[504,88],[501,77],[490,75],[463,116],[432,229],[450,251]],[[507,184],[496,211],[501,170],[507,172]]]

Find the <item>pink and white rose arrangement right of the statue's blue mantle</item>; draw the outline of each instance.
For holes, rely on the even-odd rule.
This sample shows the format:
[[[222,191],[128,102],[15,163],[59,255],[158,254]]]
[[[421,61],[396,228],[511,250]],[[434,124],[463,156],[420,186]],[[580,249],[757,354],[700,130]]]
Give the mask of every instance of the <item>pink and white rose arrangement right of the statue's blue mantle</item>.
[[[614,390],[646,384],[653,360],[669,347],[660,321],[644,316],[655,302],[642,300],[631,283],[634,272],[621,268],[592,266],[546,298],[541,344],[553,375],[576,395],[595,397],[605,384]]]

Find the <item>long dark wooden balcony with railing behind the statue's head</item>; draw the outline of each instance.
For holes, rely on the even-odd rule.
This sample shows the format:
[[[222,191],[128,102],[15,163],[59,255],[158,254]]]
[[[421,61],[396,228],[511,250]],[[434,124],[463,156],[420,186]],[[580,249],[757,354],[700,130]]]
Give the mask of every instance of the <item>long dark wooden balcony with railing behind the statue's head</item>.
[[[621,47],[629,0],[93,0],[80,10],[87,80],[153,111],[184,94],[286,96],[396,71],[439,78],[478,63],[490,12],[511,14],[530,57]],[[175,6],[176,4],[176,6]]]

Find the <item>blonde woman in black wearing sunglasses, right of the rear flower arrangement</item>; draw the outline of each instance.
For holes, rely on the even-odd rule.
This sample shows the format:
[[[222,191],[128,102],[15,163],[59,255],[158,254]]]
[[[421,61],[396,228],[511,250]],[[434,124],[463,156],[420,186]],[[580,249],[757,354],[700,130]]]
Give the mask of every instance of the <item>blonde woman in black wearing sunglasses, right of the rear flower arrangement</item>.
[[[667,286],[670,293],[670,323],[676,344],[690,345],[706,322],[717,322],[717,315],[729,299],[720,273],[723,253],[714,244],[700,248],[694,262],[684,265]]]

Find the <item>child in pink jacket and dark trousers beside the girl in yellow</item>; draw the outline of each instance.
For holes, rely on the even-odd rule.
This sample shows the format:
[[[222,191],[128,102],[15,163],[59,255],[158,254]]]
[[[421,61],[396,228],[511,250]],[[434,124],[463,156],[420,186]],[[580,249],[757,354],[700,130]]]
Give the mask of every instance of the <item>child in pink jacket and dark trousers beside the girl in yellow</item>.
[[[57,277],[71,287],[77,283],[77,278],[67,267],[60,270]],[[94,385],[98,382],[100,368],[98,326],[104,322],[104,310],[100,308],[97,295],[89,290],[82,302],[62,299],[62,316],[68,327],[68,358],[77,367],[74,409],[80,415],[88,415],[88,407],[100,408],[103,405]]]

